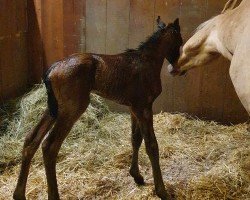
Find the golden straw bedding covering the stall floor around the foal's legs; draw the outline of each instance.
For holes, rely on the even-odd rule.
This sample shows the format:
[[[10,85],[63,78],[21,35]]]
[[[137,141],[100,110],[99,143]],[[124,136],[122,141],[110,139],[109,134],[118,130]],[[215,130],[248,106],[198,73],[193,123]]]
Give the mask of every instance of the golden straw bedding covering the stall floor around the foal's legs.
[[[25,134],[46,107],[42,86],[1,107],[0,199],[11,199],[20,167]],[[183,114],[154,117],[163,178],[176,199],[250,199],[250,134],[246,125],[222,126]],[[130,119],[112,113],[92,96],[58,157],[62,199],[157,199],[144,145],[140,168],[146,186],[128,174],[131,160]],[[47,199],[41,150],[32,162],[28,199]]]

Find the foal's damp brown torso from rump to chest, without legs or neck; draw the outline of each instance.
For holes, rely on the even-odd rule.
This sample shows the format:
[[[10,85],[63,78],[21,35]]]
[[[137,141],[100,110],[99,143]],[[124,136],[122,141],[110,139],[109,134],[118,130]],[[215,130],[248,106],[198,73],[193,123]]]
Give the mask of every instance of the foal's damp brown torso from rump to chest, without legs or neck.
[[[155,73],[154,65],[162,63],[154,63],[137,51],[117,55],[79,53],[55,63],[48,73],[53,86],[61,88],[54,92],[62,102],[71,98],[68,90],[72,93],[78,90],[78,93],[94,92],[131,106],[136,101],[143,103],[148,95],[153,98],[161,92],[160,74]],[[64,90],[65,98],[62,98]]]

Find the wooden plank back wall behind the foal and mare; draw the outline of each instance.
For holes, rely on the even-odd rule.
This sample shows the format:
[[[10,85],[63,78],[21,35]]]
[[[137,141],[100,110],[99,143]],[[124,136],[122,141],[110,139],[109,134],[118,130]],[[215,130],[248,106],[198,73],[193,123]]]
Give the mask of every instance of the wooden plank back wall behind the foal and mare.
[[[39,77],[51,63],[75,52],[114,54],[135,48],[156,29],[158,15],[165,22],[179,17],[187,39],[201,22],[217,15],[225,3],[226,0],[35,0],[33,15],[37,19],[33,19],[39,25],[43,46],[34,39],[39,38],[39,33],[29,34],[33,41],[30,52],[34,54],[32,48],[36,45],[44,50],[35,53],[32,62],[37,65],[31,67],[32,73]],[[37,59],[41,56],[43,63]],[[167,62],[155,112],[186,112],[226,123],[247,119],[230,81],[227,61],[220,59],[185,77],[174,78],[167,73],[166,65]],[[121,110],[113,103],[111,107]]]

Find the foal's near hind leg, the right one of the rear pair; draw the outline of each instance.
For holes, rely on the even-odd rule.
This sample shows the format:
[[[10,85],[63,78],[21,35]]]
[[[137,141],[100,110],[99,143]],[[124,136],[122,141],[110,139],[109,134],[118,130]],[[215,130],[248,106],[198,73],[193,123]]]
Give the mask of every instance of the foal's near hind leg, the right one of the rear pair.
[[[88,97],[89,98],[89,97]],[[56,180],[56,158],[61,148],[63,141],[70,132],[75,121],[86,110],[89,100],[84,103],[84,106],[78,107],[75,111],[68,110],[63,114],[59,114],[55,126],[49,136],[42,144],[44,165],[46,170],[48,184],[48,199],[58,200],[59,193]],[[74,105],[75,107],[76,105]]]

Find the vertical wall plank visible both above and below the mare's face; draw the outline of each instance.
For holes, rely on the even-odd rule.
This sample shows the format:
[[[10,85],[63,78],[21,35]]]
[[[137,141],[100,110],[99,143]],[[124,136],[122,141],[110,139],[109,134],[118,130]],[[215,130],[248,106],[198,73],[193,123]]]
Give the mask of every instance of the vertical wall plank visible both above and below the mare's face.
[[[204,21],[206,0],[181,1],[180,24],[184,41]],[[190,23],[192,22],[192,23]],[[200,85],[202,68],[190,71],[186,76],[175,77],[173,83],[173,109],[193,115],[200,113]]]

